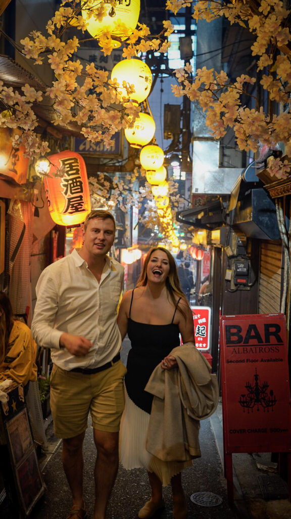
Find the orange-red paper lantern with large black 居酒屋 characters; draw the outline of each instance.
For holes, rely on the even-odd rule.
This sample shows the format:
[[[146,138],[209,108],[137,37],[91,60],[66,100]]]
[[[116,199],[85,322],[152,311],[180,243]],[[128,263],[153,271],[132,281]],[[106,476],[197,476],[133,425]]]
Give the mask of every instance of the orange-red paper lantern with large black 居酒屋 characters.
[[[90,190],[83,157],[65,151],[50,155],[49,176],[45,177],[45,190],[52,220],[59,225],[78,225],[91,211]],[[62,168],[62,177],[55,176]]]

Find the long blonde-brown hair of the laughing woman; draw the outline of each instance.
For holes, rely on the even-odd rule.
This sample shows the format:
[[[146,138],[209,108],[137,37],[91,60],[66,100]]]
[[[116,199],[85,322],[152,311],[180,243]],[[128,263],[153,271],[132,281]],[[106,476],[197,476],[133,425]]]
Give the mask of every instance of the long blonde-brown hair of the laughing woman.
[[[185,301],[186,301],[186,298],[185,298],[185,294],[182,291],[181,286],[180,286],[176,262],[175,262],[173,256],[171,255],[171,253],[167,249],[164,249],[164,247],[152,247],[152,249],[149,250],[149,252],[146,256],[146,259],[144,260],[143,266],[142,266],[141,275],[137,280],[137,286],[146,286],[146,284],[148,282],[148,275],[147,275],[148,264],[149,264],[151,255],[155,251],[162,251],[162,252],[165,252],[165,254],[167,254],[170,270],[169,270],[169,275],[166,279],[166,288],[167,288],[168,294],[170,296],[170,299],[171,299],[173,305],[176,306],[175,295],[177,295],[179,297],[183,297],[185,299]],[[178,307],[178,310],[182,313],[183,317],[185,317],[183,310],[181,310],[179,307]]]

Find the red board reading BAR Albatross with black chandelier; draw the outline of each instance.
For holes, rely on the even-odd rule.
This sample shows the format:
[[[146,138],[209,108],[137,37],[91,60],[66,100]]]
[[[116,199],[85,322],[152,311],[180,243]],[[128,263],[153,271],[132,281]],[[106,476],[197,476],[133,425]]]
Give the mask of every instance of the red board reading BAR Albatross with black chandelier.
[[[221,316],[225,453],[291,452],[283,314]]]

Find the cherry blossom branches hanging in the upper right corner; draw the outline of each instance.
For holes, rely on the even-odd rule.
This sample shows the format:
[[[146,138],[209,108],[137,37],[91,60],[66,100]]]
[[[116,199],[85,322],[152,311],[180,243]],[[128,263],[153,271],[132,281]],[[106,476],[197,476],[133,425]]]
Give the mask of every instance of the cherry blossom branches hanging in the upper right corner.
[[[174,13],[181,7],[191,5],[192,0],[167,0],[167,9]],[[291,155],[291,33],[290,11],[280,0],[235,0],[193,2],[193,18],[208,22],[225,16],[230,23],[248,28],[255,36],[251,47],[257,59],[257,71],[262,71],[260,84],[267,93],[268,112],[255,100],[254,108],[242,105],[242,96],[253,96],[252,85],[256,79],[242,74],[231,82],[225,72],[216,73],[206,67],[198,69],[193,76],[188,63],[174,71],[179,85],[173,85],[176,97],[187,95],[196,101],[206,113],[206,126],[215,139],[222,138],[229,128],[234,130],[241,150],[256,152],[259,146],[270,147],[277,142],[285,146],[285,154]],[[280,104],[280,113],[272,111],[272,101]],[[288,160],[269,160],[271,175],[286,178],[291,171]]]

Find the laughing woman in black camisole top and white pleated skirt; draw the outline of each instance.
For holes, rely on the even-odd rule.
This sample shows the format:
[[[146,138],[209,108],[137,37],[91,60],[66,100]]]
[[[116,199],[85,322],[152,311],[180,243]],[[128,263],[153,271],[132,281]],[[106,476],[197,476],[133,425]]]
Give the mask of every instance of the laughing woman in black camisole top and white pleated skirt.
[[[177,266],[171,254],[162,247],[149,251],[137,288],[125,293],[118,316],[122,339],[128,333],[132,343],[125,375],[126,405],[121,424],[120,456],[127,469],[146,467],[152,496],[139,511],[140,519],[152,517],[164,508],[162,485],[171,482],[173,517],[187,514],[181,484],[181,470],[192,461],[164,462],[146,450],[152,395],[144,391],[148,379],[161,363],[164,370],[177,366],[169,352],[180,344],[193,343],[194,327],[190,306],[181,291]]]

